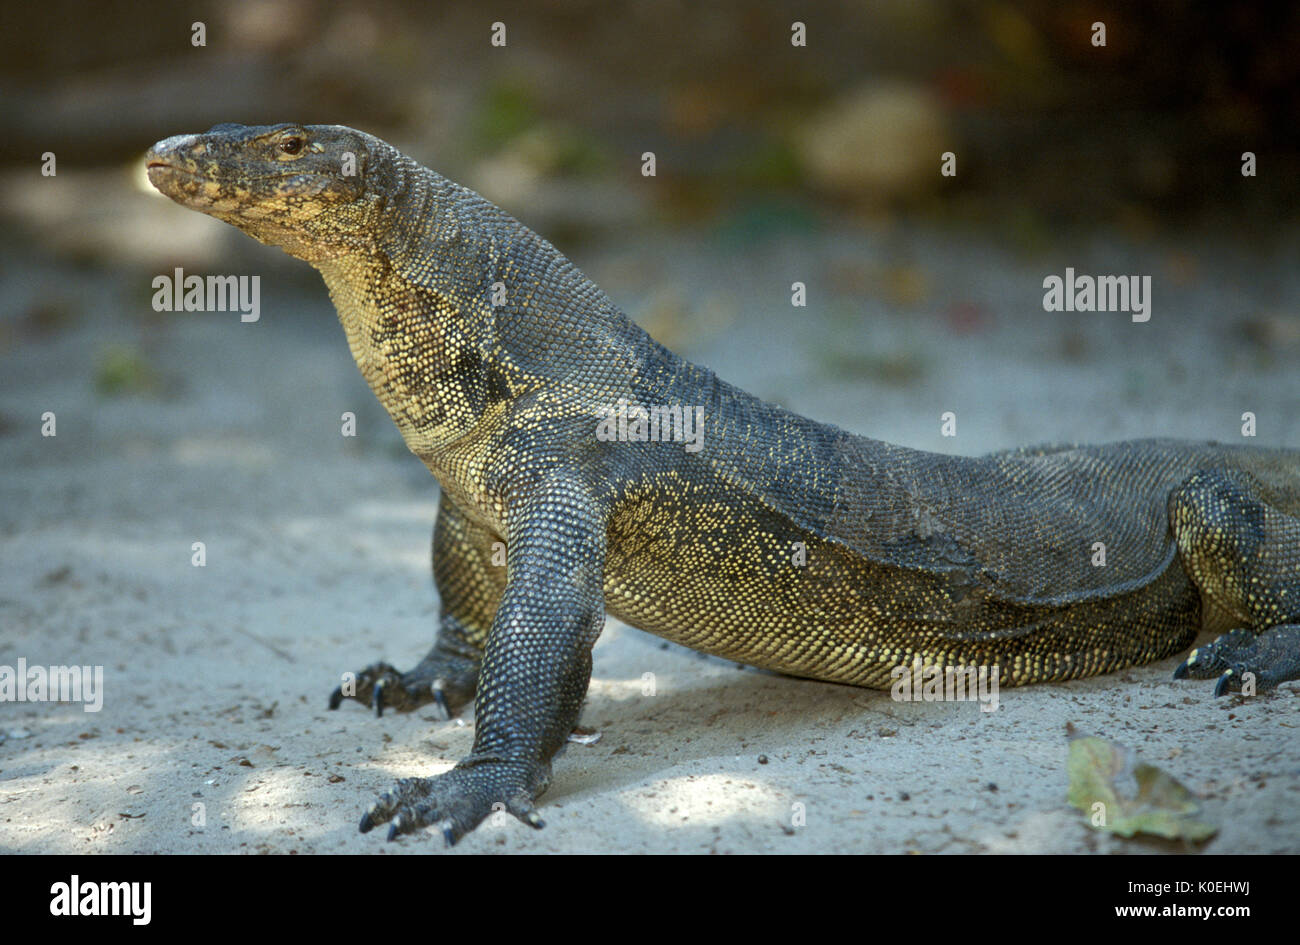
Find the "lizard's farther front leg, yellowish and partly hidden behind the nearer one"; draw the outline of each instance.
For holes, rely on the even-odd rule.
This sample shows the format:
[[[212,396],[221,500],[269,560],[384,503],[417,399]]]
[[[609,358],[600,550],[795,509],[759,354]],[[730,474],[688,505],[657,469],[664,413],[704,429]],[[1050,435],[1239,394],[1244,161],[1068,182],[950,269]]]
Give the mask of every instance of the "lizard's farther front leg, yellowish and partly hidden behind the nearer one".
[[[497,536],[442,494],[433,523],[433,582],[442,604],[433,649],[410,672],[372,663],[347,690],[339,686],[330,694],[330,708],[356,699],[382,715],[385,708],[410,712],[433,702],[439,718],[450,719],[469,705],[488,629],[506,588],[506,568],[493,563],[495,541]]]

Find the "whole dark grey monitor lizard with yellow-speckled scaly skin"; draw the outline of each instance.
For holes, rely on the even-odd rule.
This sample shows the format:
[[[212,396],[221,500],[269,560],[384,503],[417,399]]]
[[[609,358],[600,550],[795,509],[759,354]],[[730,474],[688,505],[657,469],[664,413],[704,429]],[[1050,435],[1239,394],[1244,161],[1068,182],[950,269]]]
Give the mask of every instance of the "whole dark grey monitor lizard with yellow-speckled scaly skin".
[[[494,807],[540,827],[606,614],[875,688],[915,659],[997,666],[1006,685],[1109,672],[1202,625],[1232,632],[1176,675],[1218,692],[1300,677],[1300,452],[890,446],[677,357],[545,239],[370,135],[218,125],[147,162],[173,200],[321,272],[358,367],[442,486],[437,643],[348,695],[443,714],[474,698],[473,750],[399,781],[363,831],[455,842]],[[701,408],[702,448],[598,437],[620,402]]]

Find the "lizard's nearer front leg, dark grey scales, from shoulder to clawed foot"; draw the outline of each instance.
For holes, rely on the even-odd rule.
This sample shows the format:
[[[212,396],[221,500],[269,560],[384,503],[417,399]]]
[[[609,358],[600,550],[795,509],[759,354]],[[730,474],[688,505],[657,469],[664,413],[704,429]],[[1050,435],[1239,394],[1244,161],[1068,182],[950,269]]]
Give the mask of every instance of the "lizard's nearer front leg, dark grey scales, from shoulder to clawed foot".
[[[506,591],[480,667],[474,744],[434,777],[380,797],[361,832],[437,825],[455,844],[494,810],[542,827],[533,802],[577,723],[604,623],[604,515],[580,477],[552,473],[508,512]]]

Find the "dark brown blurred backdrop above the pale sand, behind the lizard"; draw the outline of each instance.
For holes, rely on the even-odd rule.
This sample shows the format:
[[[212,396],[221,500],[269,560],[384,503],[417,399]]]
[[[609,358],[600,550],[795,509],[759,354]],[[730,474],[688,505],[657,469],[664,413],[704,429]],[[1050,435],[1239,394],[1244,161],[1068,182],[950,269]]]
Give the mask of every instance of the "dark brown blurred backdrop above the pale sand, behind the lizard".
[[[0,159],[69,170],[238,118],[365,126],[582,231],[853,204],[1138,226],[1284,217],[1300,12],[1274,4],[9,4]],[[489,45],[490,23],[507,45]],[[190,44],[191,22],[207,47]],[[806,23],[807,45],[790,43]],[[1106,45],[1093,45],[1093,22]],[[935,151],[961,156],[949,186]],[[623,192],[636,156],[662,170]],[[1227,175],[1243,149],[1256,181]],[[573,191],[559,181],[582,181]],[[620,186],[623,185],[623,186]],[[586,199],[581,199],[588,195]],[[551,204],[556,204],[552,207]],[[585,213],[567,208],[586,204]],[[776,216],[776,213],[772,211]],[[1013,224],[1014,226],[1014,224]],[[1023,234],[1022,234],[1023,235]]]

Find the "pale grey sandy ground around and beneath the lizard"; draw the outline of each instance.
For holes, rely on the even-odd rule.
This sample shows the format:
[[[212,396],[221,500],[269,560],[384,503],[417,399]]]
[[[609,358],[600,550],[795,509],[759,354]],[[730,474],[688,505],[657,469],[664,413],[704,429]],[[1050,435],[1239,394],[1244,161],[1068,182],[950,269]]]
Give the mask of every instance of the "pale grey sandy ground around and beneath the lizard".
[[[676,234],[573,255],[723,377],[870,435],[971,454],[1232,441],[1252,411],[1256,442],[1300,446],[1300,348],[1284,330],[1300,316],[1294,239],[979,247],[932,233]],[[6,251],[0,664],[101,664],[105,697],[95,714],[0,705],[5,851],[443,849],[432,833],[385,844],[356,823],[393,779],[450,767],[472,719],[325,707],[343,671],[381,656],[407,667],[428,649],[437,485],[356,374],[318,281],[248,252],[250,269],[209,270],[264,273],[254,325],[156,316],[148,273]],[[1152,321],[1044,313],[1041,279],[1066,265],[1152,274]],[[794,279],[810,305],[792,313]],[[73,317],[29,331],[23,313],[52,294]],[[98,393],[110,343],[143,350],[162,394]],[[948,409],[956,439],[940,435]],[[38,433],[44,411],[55,438]],[[355,439],[339,435],[344,411]],[[195,541],[207,567],[191,567]],[[488,823],[456,851],[1183,849],[1080,822],[1065,799],[1067,723],[1186,783],[1221,828],[1205,850],[1300,851],[1300,688],[1214,699],[1210,684],[1171,681],[1175,663],[1002,690],[984,714],[742,669],[611,623],[584,715],[602,737],[558,759],[547,828]],[[792,827],[797,810],[806,823]]]

